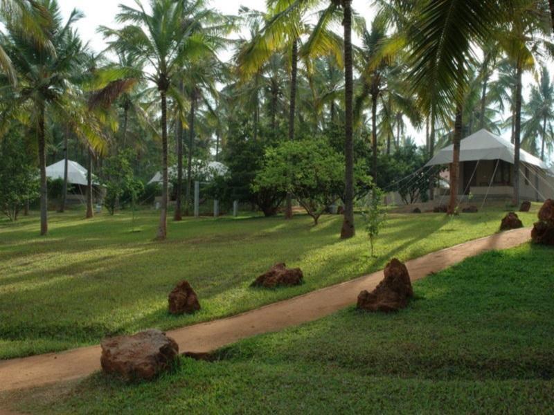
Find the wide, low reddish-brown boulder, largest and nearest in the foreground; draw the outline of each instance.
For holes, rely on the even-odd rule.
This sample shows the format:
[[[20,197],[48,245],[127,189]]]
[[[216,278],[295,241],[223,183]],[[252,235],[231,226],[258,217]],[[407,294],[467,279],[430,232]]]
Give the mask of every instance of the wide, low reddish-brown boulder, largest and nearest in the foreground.
[[[125,380],[150,380],[170,368],[179,346],[159,330],[102,340],[100,364],[106,374]]]

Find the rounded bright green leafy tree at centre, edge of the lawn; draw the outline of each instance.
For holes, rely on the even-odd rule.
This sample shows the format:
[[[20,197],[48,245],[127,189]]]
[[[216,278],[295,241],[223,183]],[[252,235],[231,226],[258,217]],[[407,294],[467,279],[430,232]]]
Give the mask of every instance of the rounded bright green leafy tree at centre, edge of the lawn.
[[[314,219],[343,193],[344,161],[325,139],[295,140],[268,149],[253,189],[290,192]]]

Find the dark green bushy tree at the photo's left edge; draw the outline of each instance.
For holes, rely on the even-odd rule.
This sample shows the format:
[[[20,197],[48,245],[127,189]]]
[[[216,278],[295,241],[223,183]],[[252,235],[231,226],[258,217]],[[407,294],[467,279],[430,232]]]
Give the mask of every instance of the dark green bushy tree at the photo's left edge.
[[[38,196],[38,175],[19,136],[0,140],[0,210],[17,220],[24,205]]]

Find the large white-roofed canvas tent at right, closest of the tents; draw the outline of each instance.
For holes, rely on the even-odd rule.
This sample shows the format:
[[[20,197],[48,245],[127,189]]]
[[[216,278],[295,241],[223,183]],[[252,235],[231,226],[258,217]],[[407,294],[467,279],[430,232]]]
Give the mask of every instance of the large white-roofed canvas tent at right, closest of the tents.
[[[454,146],[438,151],[426,167],[452,163]],[[509,199],[514,191],[514,145],[481,129],[460,142],[459,194]],[[520,150],[519,194],[524,200],[554,197],[554,181],[544,161]]]

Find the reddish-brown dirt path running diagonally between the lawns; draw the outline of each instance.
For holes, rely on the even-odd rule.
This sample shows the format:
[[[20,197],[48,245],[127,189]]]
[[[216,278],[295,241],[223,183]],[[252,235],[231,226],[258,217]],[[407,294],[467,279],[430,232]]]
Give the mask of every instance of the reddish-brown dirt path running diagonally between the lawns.
[[[488,250],[512,248],[530,239],[523,228],[476,239],[406,262],[412,281],[436,273],[467,257]],[[319,319],[354,304],[361,290],[372,290],[383,278],[378,271],[342,284],[322,288],[292,299],[269,304],[240,315],[168,331],[179,350],[213,351],[252,335],[279,331],[288,326]],[[37,387],[48,383],[82,378],[100,369],[100,346],[83,347],[62,353],[0,361],[0,391]]]

